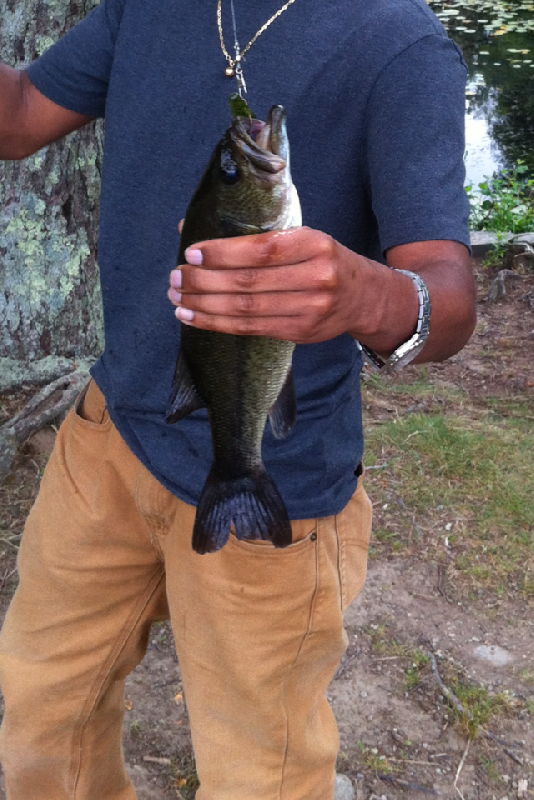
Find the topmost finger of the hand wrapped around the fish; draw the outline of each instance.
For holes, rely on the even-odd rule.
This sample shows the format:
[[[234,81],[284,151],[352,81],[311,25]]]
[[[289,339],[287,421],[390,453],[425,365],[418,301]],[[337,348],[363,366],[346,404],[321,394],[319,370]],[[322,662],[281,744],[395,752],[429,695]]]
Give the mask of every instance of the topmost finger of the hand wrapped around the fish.
[[[311,228],[213,239],[192,245],[186,251],[189,264],[208,269],[239,267],[276,267],[299,264],[312,258],[328,258],[335,242],[330,236]]]

